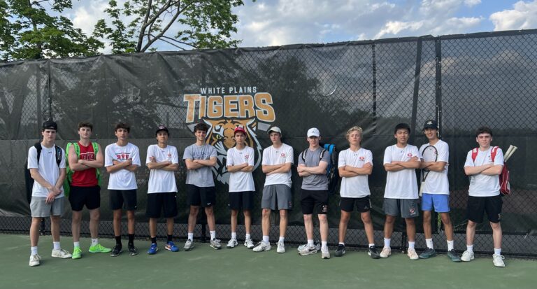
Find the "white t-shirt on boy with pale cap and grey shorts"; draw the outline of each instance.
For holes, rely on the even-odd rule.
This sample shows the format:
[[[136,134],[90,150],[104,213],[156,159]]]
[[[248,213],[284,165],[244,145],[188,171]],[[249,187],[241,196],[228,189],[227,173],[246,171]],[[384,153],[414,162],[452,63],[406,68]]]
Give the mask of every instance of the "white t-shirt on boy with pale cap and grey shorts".
[[[288,162],[294,164],[292,146],[282,143],[282,146],[279,148],[269,146],[263,150],[262,164],[264,165],[273,166],[275,164],[287,164]],[[265,178],[265,185],[287,185],[291,188],[291,184],[290,169],[287,173],[271,174]]]

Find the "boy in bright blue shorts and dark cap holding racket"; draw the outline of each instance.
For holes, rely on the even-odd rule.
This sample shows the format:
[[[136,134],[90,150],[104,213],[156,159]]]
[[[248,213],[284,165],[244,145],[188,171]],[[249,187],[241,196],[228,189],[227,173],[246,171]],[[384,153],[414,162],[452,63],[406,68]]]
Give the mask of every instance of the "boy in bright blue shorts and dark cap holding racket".
[[[425,148],[434,146],[436,148],[436,162],[424,162],[422,159],[421,168],[427,169],[427,178],[422,181],[422,211],[423,211],[423,232],[427,250],[420,254],[420,258],[427,259],[436,256],[433,245],[433,233],[431,229],[431,211],[434,208],[436,213],[440,213],[444,224],[445,238],[447,239],[447,257],[453,262],[461,262],[461,258],[454,251],[453,225],[450,218],[450,183],[447,180],[447,166],[450,160],[450,147],[445,141],[438,139],[438,125],[436,120],[427,120],[422,132],[429,143],[424,143],[420,148],[423,155]],[[422,174],[424,172],[422,171]]]

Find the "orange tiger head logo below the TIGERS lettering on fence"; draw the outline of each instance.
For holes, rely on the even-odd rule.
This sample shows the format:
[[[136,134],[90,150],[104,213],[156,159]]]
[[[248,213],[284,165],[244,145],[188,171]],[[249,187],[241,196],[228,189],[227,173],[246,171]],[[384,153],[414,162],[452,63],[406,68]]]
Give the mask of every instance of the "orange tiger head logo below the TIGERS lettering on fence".
[[[246,146],[254,148],[254,169],[259,166],[261,162],[262,147],[257,140],[257,120],[255,118],[245,120],[210,120],[203,119],[209,126],[207,132],[207,143],[214,146],[217,151],[217,164],[213,167],[213,173],[217,176],[217,181],[221,183],[229,183],[229,172],[226,169],[226,157],[227,150],[235,146],[234,129],[235,127],[242,125],[246,131]]]

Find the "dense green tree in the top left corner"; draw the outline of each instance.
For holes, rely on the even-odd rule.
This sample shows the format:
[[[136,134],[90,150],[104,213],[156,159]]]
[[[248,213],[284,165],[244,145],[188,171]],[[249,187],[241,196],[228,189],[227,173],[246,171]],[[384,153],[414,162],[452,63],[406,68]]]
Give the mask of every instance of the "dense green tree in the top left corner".
[[[61,15],[68,8],[71,0],[0,0],[0,60],[97,55],[103,43],[74,28]]]

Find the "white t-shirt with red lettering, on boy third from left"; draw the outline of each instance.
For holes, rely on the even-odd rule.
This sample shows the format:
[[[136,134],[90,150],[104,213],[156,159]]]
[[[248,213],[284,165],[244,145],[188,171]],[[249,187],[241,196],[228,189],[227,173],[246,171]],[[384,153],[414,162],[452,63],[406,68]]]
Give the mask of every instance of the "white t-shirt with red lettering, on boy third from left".
[[[117,146],[116,143],[112,143],[104,150],[104,167],[113,166],[113,160],[126,162],[129,159],[132,159],[132,164],[141,165],[140,151],[132,143],[127,143],[127,146]],[[110,174],[108,190],[136,190],[137,188],[134,171],[120,169]]]

